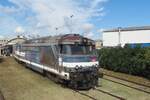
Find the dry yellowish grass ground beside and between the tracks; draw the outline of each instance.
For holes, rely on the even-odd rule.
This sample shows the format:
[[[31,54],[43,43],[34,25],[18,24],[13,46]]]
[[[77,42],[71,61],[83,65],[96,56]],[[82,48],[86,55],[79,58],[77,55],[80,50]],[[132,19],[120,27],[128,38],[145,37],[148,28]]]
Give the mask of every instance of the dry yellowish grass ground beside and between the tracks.
[[[122,96],[127,100],[150,100],[150,95],[106,80],[101,89]],[[0,90],[5,100],[91,100],[90,98],[61,87],[42,75],[18,64],[12,57],[0,63]],[[96,100],[117,100],[94,90],[81,91]]]

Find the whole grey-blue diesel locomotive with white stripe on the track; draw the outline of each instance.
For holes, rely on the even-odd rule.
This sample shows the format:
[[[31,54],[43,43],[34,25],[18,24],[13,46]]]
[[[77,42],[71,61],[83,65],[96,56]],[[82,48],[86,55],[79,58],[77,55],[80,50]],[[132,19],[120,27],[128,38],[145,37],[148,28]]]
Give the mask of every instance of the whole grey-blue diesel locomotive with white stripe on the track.
[[[79,34],[27,40],[14,47],[14,57],[27,67],[74,89],[98,85],[99,63],[95,42]]]

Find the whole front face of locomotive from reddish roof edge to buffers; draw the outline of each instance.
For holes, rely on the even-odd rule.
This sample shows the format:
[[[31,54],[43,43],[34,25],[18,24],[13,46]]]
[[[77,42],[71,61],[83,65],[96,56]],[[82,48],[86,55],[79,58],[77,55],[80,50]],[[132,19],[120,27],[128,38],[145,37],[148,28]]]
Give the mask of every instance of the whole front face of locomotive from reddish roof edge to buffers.
[[[60,45],[59,64],[68,73],[68,85],[74,89],[97,86],[99,63],[96,55],[92,53],[93,41],[80,36],[68,36],[64,41]]]

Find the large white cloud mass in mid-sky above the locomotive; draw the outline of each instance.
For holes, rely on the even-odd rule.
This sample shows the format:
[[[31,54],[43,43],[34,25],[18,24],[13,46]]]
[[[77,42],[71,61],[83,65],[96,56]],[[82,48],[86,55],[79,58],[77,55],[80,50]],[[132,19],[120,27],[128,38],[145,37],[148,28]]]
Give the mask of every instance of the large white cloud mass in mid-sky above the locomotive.
[[[25,17],[25,29],[28,33],[40,35],[54,35],[56,33],[81,33],[90,34],[94,25],[90,23],[92,17],[103,14],[101,3],[107,0],[9,0],[17,7],[0,7],[3,13]],[[81,4],[88,6],[81,6]],[[22,16],[21,16],[22,15]],[[73,17],[71,17],[73,15]],[[16,19],[17,19],[16,18]],[[18,21],[20,23],[20,20]],[[23,32],[18,27],[16,32]]]

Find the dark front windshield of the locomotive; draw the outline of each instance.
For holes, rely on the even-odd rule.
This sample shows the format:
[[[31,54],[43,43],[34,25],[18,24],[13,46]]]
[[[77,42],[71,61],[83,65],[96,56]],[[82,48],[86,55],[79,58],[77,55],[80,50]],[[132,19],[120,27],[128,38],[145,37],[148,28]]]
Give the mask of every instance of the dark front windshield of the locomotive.
[[[92,46],[79,45],[79,44],[67,44],[61,46],[61,54],[66,55],[88,55],[92,51]]]

